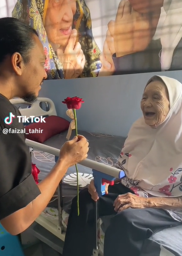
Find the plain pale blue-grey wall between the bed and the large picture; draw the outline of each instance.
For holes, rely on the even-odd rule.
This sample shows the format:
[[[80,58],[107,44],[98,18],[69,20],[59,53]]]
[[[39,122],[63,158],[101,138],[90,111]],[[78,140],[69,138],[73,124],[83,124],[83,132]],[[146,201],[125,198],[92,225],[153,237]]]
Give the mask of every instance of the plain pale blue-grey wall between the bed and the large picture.
[[[57,115],[70,120],[62,103],[67,96],[83,98],[77,111],[78,128],[83,131],[127,136],[132,123],[142,115],[140,100],[147,81],[154,74],[182,82],[182,71],[131,74],[112,77],[45,81],[40,97],[53,100]]]

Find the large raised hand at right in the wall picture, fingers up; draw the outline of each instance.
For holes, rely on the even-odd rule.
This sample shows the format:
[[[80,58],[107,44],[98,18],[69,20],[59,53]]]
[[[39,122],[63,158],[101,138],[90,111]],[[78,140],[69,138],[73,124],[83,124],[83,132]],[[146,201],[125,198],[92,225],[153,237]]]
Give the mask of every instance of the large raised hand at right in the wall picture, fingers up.
[[[160,17],[159,12],[137,13],[128,0],[121,0],[115,21],[108,24],[114,38],[116,57],[144,51],[156,31]]]

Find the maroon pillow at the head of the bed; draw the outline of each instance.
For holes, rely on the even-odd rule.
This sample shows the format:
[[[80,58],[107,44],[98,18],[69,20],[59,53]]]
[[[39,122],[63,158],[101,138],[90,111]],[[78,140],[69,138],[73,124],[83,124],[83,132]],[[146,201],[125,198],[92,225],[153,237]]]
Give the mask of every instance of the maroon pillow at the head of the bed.
[[[47,141],[52,136],[61,133],[61,131],[67,130],[70,125],[70,122],[57,115],[48,116],[44,120],[45,122],[43,123],[32,123],[25,126],[27,139],[44,143],[44,141]],[[39,129],[40,131],[43,131],[42,133],[31,133],[29,132],[29,129],[34,132],[36,131],[35,129],[38,129],[37,131],[39,131]]]

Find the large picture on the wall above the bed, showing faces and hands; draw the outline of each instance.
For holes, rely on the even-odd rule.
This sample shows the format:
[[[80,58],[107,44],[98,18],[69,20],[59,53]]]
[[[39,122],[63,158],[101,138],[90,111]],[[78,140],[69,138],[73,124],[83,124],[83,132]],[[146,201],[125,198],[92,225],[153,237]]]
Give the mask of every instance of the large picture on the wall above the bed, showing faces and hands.
[[[48,79],[182,69],[181,0],[17,0],[40,36]]]

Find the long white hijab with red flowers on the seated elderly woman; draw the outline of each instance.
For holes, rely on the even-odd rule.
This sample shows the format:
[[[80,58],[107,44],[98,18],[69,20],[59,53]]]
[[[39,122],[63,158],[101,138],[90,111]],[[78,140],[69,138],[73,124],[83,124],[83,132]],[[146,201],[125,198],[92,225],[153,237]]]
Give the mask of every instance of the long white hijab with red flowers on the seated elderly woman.
[[[165,76],[148,83],[159,77],[169,92],[169,113],[156,128],[144,117],[134,122],[118,160],[131,185],[153,196],[177,197],[182,196],[182,84]]]

